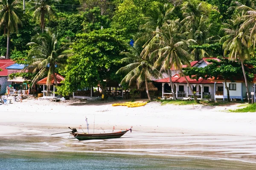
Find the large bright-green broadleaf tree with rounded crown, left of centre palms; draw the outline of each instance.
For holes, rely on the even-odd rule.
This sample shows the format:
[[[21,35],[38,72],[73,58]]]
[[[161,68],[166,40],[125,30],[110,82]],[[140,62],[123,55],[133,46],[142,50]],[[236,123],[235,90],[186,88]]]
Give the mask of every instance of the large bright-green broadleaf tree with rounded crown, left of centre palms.
[[[119,53],[126,49],[124,31],[108,28],[77,36],[75,55],[68,59],[64,71],[63,94],[98,84],[105,90],[103,79],[119,81],[115,73],[121,65]]]

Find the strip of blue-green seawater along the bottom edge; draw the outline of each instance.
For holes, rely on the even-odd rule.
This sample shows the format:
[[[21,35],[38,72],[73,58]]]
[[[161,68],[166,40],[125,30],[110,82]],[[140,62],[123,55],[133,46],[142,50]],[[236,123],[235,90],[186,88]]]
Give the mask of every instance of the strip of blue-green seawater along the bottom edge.
[[[0,170],[253,170],[255,164],[236,161],[113,153],[1,153]]]

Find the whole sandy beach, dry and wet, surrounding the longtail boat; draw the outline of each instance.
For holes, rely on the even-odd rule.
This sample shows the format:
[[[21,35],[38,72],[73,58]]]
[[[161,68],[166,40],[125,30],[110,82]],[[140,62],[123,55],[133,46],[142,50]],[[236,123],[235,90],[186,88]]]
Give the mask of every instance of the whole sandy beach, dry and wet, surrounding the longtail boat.
[[[256,169],[256,113],[225,112],[237,105],[202,106],[199,111],[195,105],[150,102],[127,108],[112,103],[26,99],[1,105],[0,150],[176,156],[215,160],[209,163],[212,166],[224,160],[239,161],[233,168]],[[115,130],[133,126],[133,131],[120,139],[90,141],[67,139],[68,133],[49,135],[80,125],[87,132],[86,117],[89,133],[94,126],[95,133],[112,132],[113,126]]]

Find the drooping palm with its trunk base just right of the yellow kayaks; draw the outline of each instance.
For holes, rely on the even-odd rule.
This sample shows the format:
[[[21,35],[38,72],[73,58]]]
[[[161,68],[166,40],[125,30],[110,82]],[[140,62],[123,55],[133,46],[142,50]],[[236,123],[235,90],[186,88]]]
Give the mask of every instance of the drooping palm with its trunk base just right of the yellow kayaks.
[[[122,59],[123,62],[128,63],[125,67],[120,68],[116,74],[125,73],[126,76],[122,79],[122,83],[129,82],[131,86],[134,82],[137,84],[137,88],[140,88],[143,82],[145,82],[146,93],[148,95],[148,100],[151,101],[149,95],[148,82],[152,77],[158,78],[159,72],[148,60],[148,58],[143,58],[141,56],[142,48],[134,46],[131,48],[131,52],[122,52],[126,57]]]

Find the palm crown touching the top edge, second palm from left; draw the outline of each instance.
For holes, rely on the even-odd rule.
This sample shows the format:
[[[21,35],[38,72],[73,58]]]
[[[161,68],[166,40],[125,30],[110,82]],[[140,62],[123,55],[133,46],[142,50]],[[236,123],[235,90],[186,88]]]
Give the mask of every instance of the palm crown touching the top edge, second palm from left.
[[[56,15],[50,4],[53,2],[58,3],[60,1],[61,0],[29,0],[29,2],[32,3],[32,8],[29,10],[34,11],[33,15],[37,20],[40,18],[42,33],[44,33],[45,18],[48,17],[51,19],[52,16]]]

